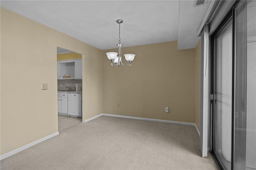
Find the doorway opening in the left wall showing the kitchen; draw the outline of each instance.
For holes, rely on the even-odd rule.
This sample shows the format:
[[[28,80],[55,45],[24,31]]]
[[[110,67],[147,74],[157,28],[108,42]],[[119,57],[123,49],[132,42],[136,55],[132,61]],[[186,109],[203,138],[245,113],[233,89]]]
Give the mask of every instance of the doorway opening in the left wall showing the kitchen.
[[[82,54],[57,47],[58,131],[82,123]]]

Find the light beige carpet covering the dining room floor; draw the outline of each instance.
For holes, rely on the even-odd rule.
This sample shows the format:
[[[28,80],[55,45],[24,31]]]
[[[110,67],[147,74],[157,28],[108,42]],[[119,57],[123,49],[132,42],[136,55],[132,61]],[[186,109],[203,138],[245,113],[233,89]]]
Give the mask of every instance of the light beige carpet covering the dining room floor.
[[[1,170],[216,170],[194,127],[98,117],[1,161]]]

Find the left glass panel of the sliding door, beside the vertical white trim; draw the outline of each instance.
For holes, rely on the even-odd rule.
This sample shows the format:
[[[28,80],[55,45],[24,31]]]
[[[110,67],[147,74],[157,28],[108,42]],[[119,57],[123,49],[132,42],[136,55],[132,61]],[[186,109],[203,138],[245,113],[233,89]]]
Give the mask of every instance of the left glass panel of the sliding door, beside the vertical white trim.
[[[232,20],[214,37],[214,145],[222,166],[231,169],[232,139]]]

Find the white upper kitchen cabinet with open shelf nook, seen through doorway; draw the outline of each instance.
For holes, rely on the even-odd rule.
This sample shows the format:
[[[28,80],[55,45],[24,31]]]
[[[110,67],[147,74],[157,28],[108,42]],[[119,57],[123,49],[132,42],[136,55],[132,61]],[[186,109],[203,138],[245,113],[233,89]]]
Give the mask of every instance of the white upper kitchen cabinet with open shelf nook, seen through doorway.
[[[57,72],[58,79],[82,79],[82,59],[57,61]]]

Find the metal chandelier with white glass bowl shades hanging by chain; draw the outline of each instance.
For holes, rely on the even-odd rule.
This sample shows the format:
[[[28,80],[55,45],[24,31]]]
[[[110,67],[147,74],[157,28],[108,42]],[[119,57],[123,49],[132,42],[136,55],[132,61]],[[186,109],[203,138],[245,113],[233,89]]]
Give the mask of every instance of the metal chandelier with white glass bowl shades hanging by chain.
[[[118,39],[118,53],[116,52],[108,52],[106,53],[108,59],[110,59],[111,65],[116,66],[116,68],[119,67],[120,63],[127,67],[131,67],[131,62],[134,60],[135,54],[124,54],[124,57],[126,61],[128,61],[127,65],[124,65],[122,62],[122,44],[121,44],[121,38],[120,38],[120,24],[122,24],[124,21],[123,20],[116,20],[117,24],[119,24],[119,39]]]

